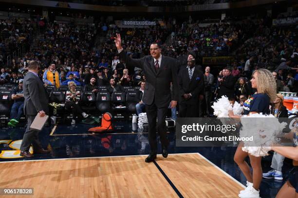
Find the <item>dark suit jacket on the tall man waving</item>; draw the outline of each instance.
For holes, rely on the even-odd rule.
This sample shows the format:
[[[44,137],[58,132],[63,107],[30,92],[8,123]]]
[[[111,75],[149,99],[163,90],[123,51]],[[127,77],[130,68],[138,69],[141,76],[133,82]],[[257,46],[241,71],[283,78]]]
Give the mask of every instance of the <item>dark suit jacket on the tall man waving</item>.
[[[146,76],[146,85],[144,90],[143,101],[151,105],[154,101],[158,108],[168,107],[171,101],[170,82],[173,83],[173,100],[178,101],[178,81],[177,81],[177,62],[168,56],[162,56],[158,73],[155,71],[154,59],[152,56],[144,56],[141,59],[131,59],[125,50],[119,54],[129,70],[133,71],[134,67],[142,68]]]

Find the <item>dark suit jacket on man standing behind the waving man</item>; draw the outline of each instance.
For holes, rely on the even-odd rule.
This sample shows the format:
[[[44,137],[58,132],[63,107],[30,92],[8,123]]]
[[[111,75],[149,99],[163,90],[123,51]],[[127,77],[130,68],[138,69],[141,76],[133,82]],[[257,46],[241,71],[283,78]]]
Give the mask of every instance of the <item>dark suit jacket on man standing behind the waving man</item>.
[[[189,79],[188,68],[179,71],[179,102],[187,104],[198,103],[199,94],[204,90],[204,74],[195,67],[191,79]],[[191,94],[189,99],[183,97],[184,94]]]

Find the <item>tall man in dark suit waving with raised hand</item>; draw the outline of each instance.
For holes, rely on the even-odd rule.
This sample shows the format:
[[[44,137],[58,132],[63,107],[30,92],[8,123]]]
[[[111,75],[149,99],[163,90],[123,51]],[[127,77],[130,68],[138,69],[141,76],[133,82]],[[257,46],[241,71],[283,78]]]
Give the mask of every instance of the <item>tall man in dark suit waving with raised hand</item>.
[[[161,49],[157,43],[150,45],[151,56],[144,56],[141,59],[130,58],[126,51],[121,47],[121,36],[117,34],[115,44],[119,52],[120,59],[123,59],[130,71],[134,67],[142,68],[146,76],[146,85],[144,90],[143,102],[146,105],[146,113],[149,122],[149,144],[150,154],[145,162],[152,162],[156,159],[157,140],[156,132],[158,132],[162,143],[163,157],[168,157],[167,130],[166,130],[166,114],[168,105],[171,108],[176,107],[178,100],[178,81],[177,81],[177,62],[161,54]],[[173,83],[173,99],[171,100],[170,83]],[[157,123],[156,123],[157,118]]]

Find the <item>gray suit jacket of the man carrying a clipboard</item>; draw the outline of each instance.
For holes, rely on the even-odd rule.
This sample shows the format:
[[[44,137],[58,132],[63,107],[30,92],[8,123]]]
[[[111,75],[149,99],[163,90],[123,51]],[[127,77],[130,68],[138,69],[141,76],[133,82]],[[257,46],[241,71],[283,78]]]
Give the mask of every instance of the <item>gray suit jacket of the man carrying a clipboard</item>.
[[[49,97],[43,82],[32,72],[28,72],[23,81],[24,92],[24,114],[37,115],[37,112],[44,111],[49,114]]]

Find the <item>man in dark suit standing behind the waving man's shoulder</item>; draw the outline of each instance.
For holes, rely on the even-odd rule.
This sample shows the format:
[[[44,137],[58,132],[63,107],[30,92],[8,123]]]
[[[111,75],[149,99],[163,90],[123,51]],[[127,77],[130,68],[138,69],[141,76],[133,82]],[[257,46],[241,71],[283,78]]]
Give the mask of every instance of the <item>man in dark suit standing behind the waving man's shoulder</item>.
[[[179,72],[179,116],[197,117],[199,94],[204,89],[203,72],[195,67],[195,59]]]

